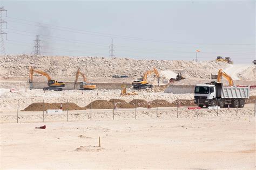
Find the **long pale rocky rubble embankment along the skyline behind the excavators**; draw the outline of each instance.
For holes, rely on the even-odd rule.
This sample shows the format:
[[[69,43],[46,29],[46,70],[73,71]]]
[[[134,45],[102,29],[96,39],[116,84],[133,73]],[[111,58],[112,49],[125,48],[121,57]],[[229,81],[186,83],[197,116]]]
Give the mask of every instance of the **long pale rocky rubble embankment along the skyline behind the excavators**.
[[[207,79],[210,73],[217,73],[219,68],[227,68],[226,62],[216,61],[170,61],[170,60],[135,60],[128,58],[104,58],[91,56],[0,56],[0,78],[28,77],[33,66],[54,77],[74,77],[80,67],[87,77],[112,77],[113,74],[141,77],[146,70],[156,67],[163,70],[183,70],[181,74],[190,78]],[[171,74],[170,74],[171,75]],[[166,75],[165,75],[166,76]]]

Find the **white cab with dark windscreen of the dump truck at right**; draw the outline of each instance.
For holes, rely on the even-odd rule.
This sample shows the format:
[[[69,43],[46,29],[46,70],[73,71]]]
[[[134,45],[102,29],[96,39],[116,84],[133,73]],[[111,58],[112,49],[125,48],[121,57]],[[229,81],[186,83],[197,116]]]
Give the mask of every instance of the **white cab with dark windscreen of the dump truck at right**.
[[[216,97],[215,86],[213,84],[197,84],[194,88],[194,103],[199,107],[215,106],[216,102],[212,102],[212,99]]]

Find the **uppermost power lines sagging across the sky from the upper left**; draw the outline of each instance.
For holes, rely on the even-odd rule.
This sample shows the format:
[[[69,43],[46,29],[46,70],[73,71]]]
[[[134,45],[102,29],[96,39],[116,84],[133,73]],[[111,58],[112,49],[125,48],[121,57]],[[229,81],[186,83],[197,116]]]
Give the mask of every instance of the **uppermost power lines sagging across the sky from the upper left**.
[[[92,36],[101,36],[101,37],[114,37],[114,38],[122,38],[122,39],[130,39],[130,40],[138,40],[138,41],[149,41],[149,42],[162,42],[162,43],[169,43],[169,44],[192,44],[192,45],[255,45],[255,44],[206,44],[206,43],[188,43],[188,42],[178,42],[178,41],[166,41],[166,40],[156,40],[156,39],[145,39],[145,38],[138,38],[138,37],[128,37],[128,36],[119,36],[115,34],[106,34],[106,33],[99,33],[99,32],[92,32],[92,31],[85,31],[85,30],[77,30],[73,29],[70,27],[64,27],[64,26],[57,26],[57,25],[52,25],[52,24],[45,24],[45,23],[39,23],[39,22],[32,22],[29,20],[25,19],[19,19],[19,18],[13,18],[13,17],[8,17],[11,19],[16,19],[16,20],[23,20],[25,22],[30,22],[30,23],[37,23],[37,24],[42,24],[42,25],[35,25],[35,24],[28,24],[24,22],[17,22],[13,20],[9,20],[10,22],[16,22],[16,23],[21,23],[21,24],[28,24],[28,25],[33,25],[33,26],[38,26],[38,27],[44,27],[43,25],[49,25],[53,27],[59,27],[62,29],[57,29],[53,27],[48,27],[49,29],[54,29],[54,30],[59,30],[59,31],[68,31],[68,32],[73,32],[73,33],[80,33],[80,34],[90,34]],[[63,30],[63,29],[68,29],[68,30]]]

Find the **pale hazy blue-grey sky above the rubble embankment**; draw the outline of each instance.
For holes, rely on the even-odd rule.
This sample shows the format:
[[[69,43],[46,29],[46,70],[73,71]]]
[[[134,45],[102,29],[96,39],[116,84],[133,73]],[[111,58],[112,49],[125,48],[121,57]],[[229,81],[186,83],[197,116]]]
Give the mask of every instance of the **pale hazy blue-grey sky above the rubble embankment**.
[[[2,1],[7,54],[199,60],[255,57],[255,1]],[[5,13],[3,13],[5,16]],[[4,36],[5,39],[5,36]]]

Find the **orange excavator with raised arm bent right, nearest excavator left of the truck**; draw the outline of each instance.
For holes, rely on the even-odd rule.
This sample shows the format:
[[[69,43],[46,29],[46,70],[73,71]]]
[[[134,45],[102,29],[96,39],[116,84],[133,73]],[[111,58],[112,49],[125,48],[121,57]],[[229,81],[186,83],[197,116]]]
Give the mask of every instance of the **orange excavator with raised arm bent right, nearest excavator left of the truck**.
[[[159,78],[160,78],[160,74],[158,72],[158,70],[156,68],[153,68],[153,70],[149,70],[146,73],[144,73],[143,77],[135,80],[132,82],[132,87],[134,89],[146,89],[146,88],[152,88],[153,85],[149,84],[149,82],[147,81],[147,75],[154,73],[157,78],[158,78],[158,83],[159,83]]]

